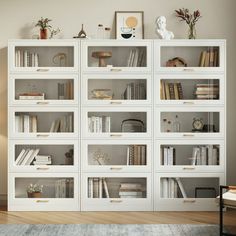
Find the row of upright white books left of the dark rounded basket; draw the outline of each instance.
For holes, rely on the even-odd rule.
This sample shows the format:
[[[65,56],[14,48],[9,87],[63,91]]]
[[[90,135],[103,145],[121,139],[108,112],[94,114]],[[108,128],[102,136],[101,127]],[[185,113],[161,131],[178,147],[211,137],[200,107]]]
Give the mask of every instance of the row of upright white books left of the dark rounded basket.
[[[109,133],[111,130],[110,116],[88,117],[88,130],[90,133]]]

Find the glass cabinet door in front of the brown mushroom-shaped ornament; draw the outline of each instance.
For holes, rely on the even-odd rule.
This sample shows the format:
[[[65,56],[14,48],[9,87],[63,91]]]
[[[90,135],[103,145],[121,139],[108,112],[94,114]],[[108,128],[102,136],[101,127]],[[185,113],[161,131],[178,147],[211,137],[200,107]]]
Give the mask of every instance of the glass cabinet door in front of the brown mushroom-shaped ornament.
[[[84,71],[151,72],[151,42],[82,42]]]

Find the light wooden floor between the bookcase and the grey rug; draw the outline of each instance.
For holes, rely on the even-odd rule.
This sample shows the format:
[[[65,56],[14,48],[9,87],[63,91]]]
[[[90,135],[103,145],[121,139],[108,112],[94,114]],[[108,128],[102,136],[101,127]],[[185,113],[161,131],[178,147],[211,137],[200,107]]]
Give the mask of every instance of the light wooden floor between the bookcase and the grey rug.
[[[236,210],[228,210],[225,224],[236,226]],[[218,224],[218,212],[7,212],[0,224]]]

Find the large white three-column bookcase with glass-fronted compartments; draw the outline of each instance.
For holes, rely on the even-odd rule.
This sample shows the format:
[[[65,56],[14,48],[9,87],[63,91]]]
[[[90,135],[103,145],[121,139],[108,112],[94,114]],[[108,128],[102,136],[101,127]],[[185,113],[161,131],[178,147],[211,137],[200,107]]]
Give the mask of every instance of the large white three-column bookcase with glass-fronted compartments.
[[[10,211],[217,209],[225,40],[10,40],[8,53]],[[176,57],[187,66],[166,66]],[[52,164],[16,163],[22,150]]]

